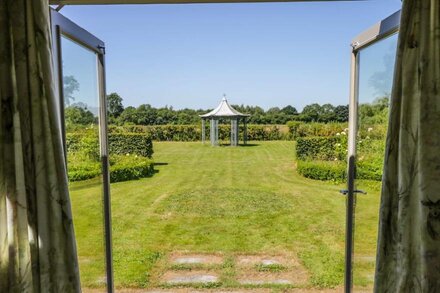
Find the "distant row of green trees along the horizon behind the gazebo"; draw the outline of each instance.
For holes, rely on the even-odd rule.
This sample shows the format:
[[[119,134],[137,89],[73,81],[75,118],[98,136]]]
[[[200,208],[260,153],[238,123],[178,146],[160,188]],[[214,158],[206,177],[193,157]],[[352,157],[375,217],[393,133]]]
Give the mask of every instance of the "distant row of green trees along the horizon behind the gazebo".
[[[154,108],[149,104],[138,107],[124,108],[123,98],[117,93],[111,93],[108,98],[109,122],[123,125],[188,125],[200,123],[199,115],[212,109],[181,109],[165,106]],[[66,108],[66,119],[73,124],[89,124],[95,121],[93,114],[86,107],[73,104]],[[303,122],[347,122],[348,105],[334,106],[332,104],[320,105],[313,103],[304,107],[302,112],[291,105],[273,107],[265,111],[258,106],[233,105],[242,113],[250,114],[250,124],[286,124],[288,121]],[[388,97],[376,99],[371,104],[362,104],[359,107],[361,119],[368,122],[382,123],[386,121],[388,113]]]

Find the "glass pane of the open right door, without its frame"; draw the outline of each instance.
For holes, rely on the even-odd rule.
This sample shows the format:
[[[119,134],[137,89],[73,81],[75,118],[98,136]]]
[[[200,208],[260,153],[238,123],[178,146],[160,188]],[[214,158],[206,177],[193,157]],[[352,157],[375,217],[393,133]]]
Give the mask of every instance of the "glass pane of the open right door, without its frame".
[[[376,260],[381,176],[388,126],[397,34],[359,53],[354,276],[355,287],[372,288]]]

